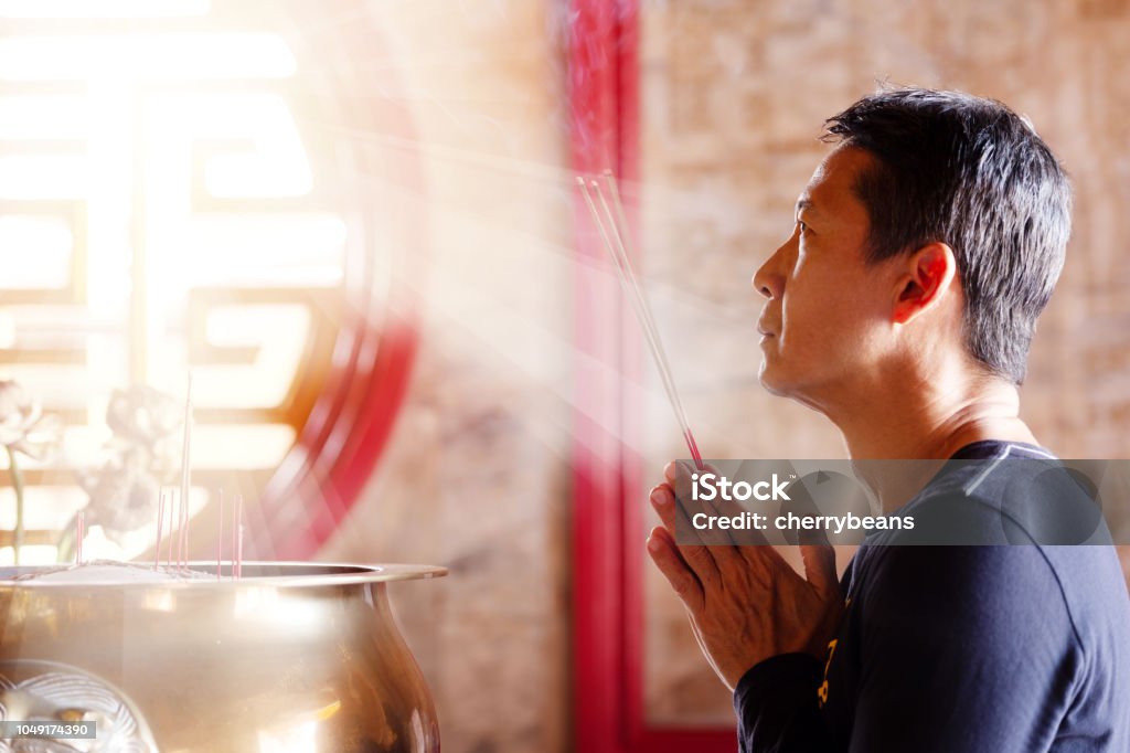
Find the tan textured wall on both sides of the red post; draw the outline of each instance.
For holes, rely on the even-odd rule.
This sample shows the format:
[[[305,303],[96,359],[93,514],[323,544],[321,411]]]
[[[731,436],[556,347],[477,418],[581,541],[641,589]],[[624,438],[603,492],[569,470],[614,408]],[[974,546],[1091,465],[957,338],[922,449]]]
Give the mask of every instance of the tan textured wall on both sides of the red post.
[[[436,259],[393,449],[323,556],[452,566],[394,592],[449,750],[568,750],[570,15],[372,7],[419,97]],[[1064,162],[1076,230],[1025,415],[1063,456],[1130,456],[1128,14],[1121,0],[642,5],[644,266],[705,455],[843,456],[822,417],[757,387],[749,278],[791,227],[823,120],[889,79],[1000,98]],[[643,371],[652,479],[685,449]],[[644,572],[649,719],[728,724],[681,607]]]

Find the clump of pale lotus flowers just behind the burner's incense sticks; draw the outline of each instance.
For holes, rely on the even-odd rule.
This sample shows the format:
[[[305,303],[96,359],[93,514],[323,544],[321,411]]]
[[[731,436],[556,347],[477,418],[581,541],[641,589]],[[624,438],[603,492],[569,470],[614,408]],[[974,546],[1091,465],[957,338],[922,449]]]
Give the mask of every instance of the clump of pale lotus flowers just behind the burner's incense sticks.
[[[107,538],[121,539],[153,522],[160,485],[175,470],[182,410],[180,401],[151,387],[114,390],[106,408],[113,432],[110,458],[102,468],[79,475],[90,497],[82,511],[87,527],[101,526]],[[73,525],[63,529],[63,560],[73,551]]]

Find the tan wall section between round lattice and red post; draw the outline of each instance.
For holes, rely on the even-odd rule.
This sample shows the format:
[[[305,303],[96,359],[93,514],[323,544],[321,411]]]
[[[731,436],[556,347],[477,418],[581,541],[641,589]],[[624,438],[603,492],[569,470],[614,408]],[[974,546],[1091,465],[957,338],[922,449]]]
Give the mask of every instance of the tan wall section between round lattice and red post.
[[[391,591],[444,750],[568,750],[564,8],[367,8],[392,31],[418,130],[431,256],[409,280],[423,322],[407,404],[363,501],[320,559],[451,568],[453,577]]]

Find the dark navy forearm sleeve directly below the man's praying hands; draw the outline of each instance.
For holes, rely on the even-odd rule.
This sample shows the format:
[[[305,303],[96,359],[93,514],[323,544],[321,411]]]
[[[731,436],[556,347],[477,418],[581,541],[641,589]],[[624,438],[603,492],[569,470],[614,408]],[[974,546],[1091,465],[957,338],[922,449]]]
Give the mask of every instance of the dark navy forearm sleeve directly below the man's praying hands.
[[[808,654],[782,654],[754,666],[738,682],[741,753],[828,751],[829,741],[816,703],[824,666]]]

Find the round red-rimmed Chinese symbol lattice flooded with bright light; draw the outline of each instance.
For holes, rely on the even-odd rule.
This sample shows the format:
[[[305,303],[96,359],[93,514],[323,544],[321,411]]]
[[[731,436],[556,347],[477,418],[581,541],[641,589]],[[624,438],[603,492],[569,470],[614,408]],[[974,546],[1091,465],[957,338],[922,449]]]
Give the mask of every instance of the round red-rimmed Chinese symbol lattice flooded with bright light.
[[[0,378],[66,425],[24,473],[27,543],[89,502],[107,529],[122,516],[99,505],[136,510],[107,547],[142,554],[159,492],[138,490],[179,486],[180,424],[159,417],[191,381],[193,554],[215,554],[223,490],[245,500],[245,556],[312,555],[372,471],[415,350],[395,280],[419,274],[419,168],[380,29],[363,5],[297,0],[0,16]],[[373,70],[383,96],[359,94]],[[138,460],[115,400],[116,424],[175,436]],[[133,481],[99,485],[123,468]]]

